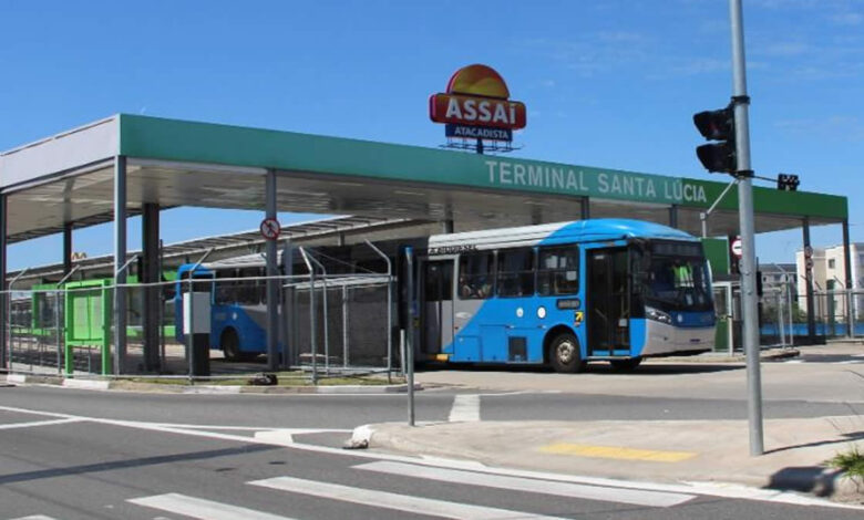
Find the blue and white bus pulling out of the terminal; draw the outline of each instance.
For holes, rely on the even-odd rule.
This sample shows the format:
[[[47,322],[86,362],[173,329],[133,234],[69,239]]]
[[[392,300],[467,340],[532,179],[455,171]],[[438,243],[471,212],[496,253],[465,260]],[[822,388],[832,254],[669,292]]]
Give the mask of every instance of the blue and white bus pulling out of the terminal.
[[[701,242],[666,226],[596,219],[433,236],[416,268],[420,358],[574,373],[713,346]]]

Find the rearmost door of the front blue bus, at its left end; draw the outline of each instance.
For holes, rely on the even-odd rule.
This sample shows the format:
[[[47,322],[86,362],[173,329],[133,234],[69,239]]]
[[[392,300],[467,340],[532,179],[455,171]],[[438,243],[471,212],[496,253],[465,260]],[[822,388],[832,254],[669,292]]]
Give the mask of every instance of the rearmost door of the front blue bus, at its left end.
[[[453,260],[425,261],[421,272],[421,352],[439,354],[453,343]]]

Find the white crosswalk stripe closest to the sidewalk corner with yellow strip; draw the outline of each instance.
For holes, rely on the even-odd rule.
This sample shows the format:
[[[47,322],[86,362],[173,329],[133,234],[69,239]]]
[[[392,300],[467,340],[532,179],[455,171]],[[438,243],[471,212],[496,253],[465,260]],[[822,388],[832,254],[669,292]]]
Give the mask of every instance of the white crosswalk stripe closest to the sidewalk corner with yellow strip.
[[[695,498],[692,495],[683,493],[586,486],[582,483],[508,477],[503,475],[465,471],[460,469],[435,468],[403,462],[369,462],[354,466],[354,468],[390,475],[402,475],[405,477],[425,478],[430,480],[439,480],[442,482],[465,483],[472,486],[484,486],[488,488],[507,489],[511,491],[525,491],[542,495],[554,495],[557,497],[604,500],[607,502],[621,502],[635,506],[659,508],[678,506],[679,503],[687,502],[688,500]]]

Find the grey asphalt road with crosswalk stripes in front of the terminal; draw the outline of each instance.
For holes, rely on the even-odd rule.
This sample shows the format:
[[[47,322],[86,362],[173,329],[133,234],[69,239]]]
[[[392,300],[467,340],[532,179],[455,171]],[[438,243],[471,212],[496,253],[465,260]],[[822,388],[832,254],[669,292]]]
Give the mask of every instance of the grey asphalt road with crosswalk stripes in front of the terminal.
[[[448,420],[456,401],[476,403],[483,420],[660,413],[667,418],[698,414],[729,418],[745,413],[744,404],[734,399],[465,388],[418,393],[418,419]],[[772,401],[767,416],[842,414],[845,405],[832,406],[836,407]],[[621,488],[563,481],[552,475],[526,477],[328,447],[341,444],[354,426],[404,417],[404,395],[163,395],[0,387],[0,519],[792,520],[862,514],[651,485]],[[288,434],[298,444],[286,441]]]

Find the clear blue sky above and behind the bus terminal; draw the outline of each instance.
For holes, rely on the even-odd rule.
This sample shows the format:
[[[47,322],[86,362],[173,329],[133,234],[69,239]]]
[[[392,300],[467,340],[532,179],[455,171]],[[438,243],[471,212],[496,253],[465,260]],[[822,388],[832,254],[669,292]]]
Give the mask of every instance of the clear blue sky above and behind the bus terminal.
[[[528,107],[515,156],[723,179],[696,159],[691,115],[731,93],[726,0],[0,0],[0,149],[119,112],[438,146],[429,94],[485,63]],[[848,196],[864,241],[864,0],[744,0],[744,28],[754,169]],[[162,235],[259,220],[175,209]],[[840,242],[840,226],[813,240]],[[9,269],[60,261],[60,243],[11,246]],[[800,230],[765,235],[758,256],[800,246]],[[110,252],[110,228],[76,231],[74,249]]]

